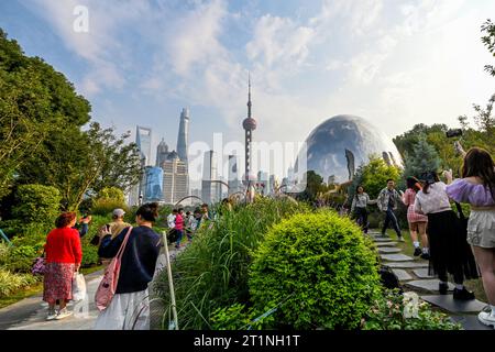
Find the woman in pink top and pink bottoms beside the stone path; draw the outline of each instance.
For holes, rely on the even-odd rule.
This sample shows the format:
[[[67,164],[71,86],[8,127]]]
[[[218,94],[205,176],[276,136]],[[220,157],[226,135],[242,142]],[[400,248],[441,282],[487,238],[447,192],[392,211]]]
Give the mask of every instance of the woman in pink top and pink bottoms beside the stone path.
[[[416,177],[407,177],[407,189],[403,195],[403,202],[407,206],[407,222],[409,223],[410,238],[415,246],[415,256],[421,255],[424,260],[429,260],[428,238],[426,228],[428,224],[428,217],[415,212],[416,194],[422,189],[421,184]],[[419,248],[421,240],[422,251]]]

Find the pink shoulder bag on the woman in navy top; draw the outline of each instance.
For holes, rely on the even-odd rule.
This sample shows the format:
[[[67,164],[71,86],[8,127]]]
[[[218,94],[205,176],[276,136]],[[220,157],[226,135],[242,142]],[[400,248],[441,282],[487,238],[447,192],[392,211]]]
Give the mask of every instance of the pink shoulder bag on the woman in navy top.
[[[105,270],[103,278],[101,279],[101,283],[96,292],[95,302],[100,311],[105,310],[110,305],[113,296],[116,295],[117,283],[119,282],[122,254],[125,249],[125,244],[128,243],[132,227],[129,228],[128,233],[125,234],[125,238],[122,242],[122,245],[119,249],[119,252],[117,252],[117,255],[112,258],[110,264]]]

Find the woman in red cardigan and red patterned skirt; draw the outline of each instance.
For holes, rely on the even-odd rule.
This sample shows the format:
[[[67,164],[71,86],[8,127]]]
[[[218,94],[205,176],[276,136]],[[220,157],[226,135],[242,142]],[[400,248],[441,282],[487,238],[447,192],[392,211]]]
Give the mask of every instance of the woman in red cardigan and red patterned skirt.
[[[48,233],[45,244],[45,274],[43,300],[48,304],[46,320],[64,319],[73,312],[67,302],[73,299],[73,277],[79,271],[82,251],[75,212],[64,212],[55,221],[56,229]],[[58,301],[59,309],[55,310]]]

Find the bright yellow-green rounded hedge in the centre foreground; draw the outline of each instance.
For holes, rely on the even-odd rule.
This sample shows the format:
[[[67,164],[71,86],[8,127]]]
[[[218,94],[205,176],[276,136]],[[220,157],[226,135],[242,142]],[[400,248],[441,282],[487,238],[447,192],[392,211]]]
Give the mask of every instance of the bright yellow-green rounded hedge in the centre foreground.
[[[274,226],[254,254],[254,306],[278,306],[276,327],[355,329],[381,293],[376,252],[348,218],[295,215]]]

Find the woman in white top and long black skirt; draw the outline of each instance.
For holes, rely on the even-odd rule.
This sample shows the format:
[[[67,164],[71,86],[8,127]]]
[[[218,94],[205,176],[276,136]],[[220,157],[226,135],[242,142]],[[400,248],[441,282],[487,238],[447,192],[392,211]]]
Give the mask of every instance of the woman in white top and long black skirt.
[[[415,212],[428,216],[428,235],[430,240],[429,274],[438,274],[439,292],[447,295],[448,273],[453,275],[455,288],[453,298],[474,299],[463,283],[464,278],[477,278],[476,263],[462,233],[462,224],[450,206],[446,193],[447,185],[440,182],[436,172],[424,175],[425,187],[418,191]]]

